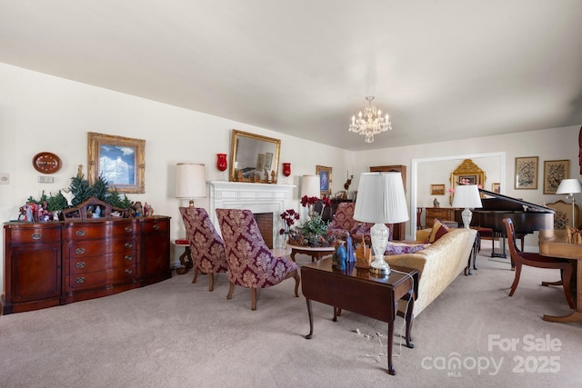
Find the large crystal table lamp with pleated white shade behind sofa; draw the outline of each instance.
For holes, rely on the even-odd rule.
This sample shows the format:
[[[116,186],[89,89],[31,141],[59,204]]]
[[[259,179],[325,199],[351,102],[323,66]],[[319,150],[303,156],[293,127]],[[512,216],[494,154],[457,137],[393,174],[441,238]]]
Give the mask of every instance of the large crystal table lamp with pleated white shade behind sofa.
[[[360,174],[357,187],[354,219],[374,224],[370,239],[375,260],[370,266],[374,274],[390,274],[390,265],[384,260],[390,231],[386,224],[408,221],[404,184],[400,173]]]

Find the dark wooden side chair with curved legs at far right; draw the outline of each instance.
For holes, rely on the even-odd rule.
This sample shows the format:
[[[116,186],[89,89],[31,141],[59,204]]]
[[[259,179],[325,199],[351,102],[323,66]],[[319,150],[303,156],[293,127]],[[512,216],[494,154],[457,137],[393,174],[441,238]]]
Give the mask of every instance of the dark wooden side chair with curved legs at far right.
[[[516,276],[513,284],[511,284],[511,291],[509,296],[513,296],[516,292],[517,284],[519,283],[519,276],[521,275],[522,265],[529,265],[537,268],[551,268],[559,269],[562,275],[561,283],[543,282],[543,285],[561,284],[564,286],[564,293],[566,294],[567,303],[571,308],[576,308],[572,300],[572,293],[570,293],[570,279],[573,273],[573,266],[567,259],[558,257],[542,256],[541,254],[534,254],[528,252],[521,252],[517,249],[516,234],[511,218],[504,218],[503,223],[506,224],[507,230],[507,244],[509,244],[509,252],[511,253],[512,268],[515,266]]]

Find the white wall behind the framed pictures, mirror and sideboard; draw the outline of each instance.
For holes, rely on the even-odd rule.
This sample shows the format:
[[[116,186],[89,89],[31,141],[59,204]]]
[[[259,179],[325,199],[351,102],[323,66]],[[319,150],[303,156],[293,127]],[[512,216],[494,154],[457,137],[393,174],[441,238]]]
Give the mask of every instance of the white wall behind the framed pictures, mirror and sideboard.
[[[0,64],[0,174],[10,174],[10,184],[0,184],[0,220],[15,219],[18,208],[29,196],[38,198],[42,191],[57,192],[67,188],[83,164],[86,174],[86,133],[116,134],[146,140],[146,194],[128,194],[133,201],[151,204],[156,214],[172,217],[172,238],[185,234],[178,206],[185,201],[174,198],[176,163],[206,164],[206,179],[221,177],[216,170],[216,154],[230,152],[230,133],[238,129],[281,139],[280,162],[291,163],[292,176],[282,182],[299,185],[302,174],[315,174],[316,164],[333,168],[332,193],[343,190],[346,174],[354,174],[350,191],[357,189],[358,175],[370,165],[406,164],[411,203],[411,165],[415,159],[486,153],[507,153],[507,179],[501,182],[504,193],[541,204],[559,199],[543,195],[541,177],[544,160],[569,159],[570,176],[579,177],[577,131],[579,126],[555,128],[523,134],[507,134],[440,144],[420,144],[382,150],[349,152],[325,144],[316,144],[265,128],[236,123],[167,104],[124,95],[92,85],[84,85],[23,68]],[[405,128],[395,130],[406,131]],[[389,136],[390,134],[381,134]],[[363,141],[356,138],[355,141]],[[63,168],[53,174],[54,184],[39,184],[40,175],[32,166],[33,155],[49,151],[59,155]],[[514,190],[512,175],[517,156],[539,156],[540,183],[537,190]],[[229,155],[230,156],[230,155]],[[450,171],[435,176],[440,183]],[[422,164],[419,170],[422,171]],[[452,171],[452,170],[451,170]],[[419,174],[422,176],[422,174]],[[494,172],[487,171],[489,176]],[[432,180],[429,178],[429,182]],[[448,182],[446,179],[443,181]],[[497,181],[496,181],[497,182]],[[421,177],[419,192],[426,192],[426,178]],[[415,194],[416,196],[416,194]],[[298,191],[294,194],[298,197]],[[581,198],[577,198],[582,203]],[[442,202],[441,202],[442,203]],[[208,209],[207,199],[196,204]],[[411,212],[414,216],[415,212]],[[408,234],[409,229],[408,229]],[[409,235],[408,238],[412,236]],[[4,247],[4,234],[2,234]],[[174,260],[181,254],[176,252]],[[0,268],[4,282],[4,266]]]

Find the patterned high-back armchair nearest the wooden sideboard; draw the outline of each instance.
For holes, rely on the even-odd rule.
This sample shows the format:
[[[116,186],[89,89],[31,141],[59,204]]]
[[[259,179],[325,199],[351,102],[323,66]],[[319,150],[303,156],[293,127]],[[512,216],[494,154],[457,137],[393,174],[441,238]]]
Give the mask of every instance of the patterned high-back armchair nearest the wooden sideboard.
[[[206,210],[201,207],[180,207],[180,214],[186,228],[186,237],[190,243],[190,252],[194,261],[194,279],[198,274],[208,274],[208,291],[214,289],[214,274],[226,273],[225,244],[216,232]]]

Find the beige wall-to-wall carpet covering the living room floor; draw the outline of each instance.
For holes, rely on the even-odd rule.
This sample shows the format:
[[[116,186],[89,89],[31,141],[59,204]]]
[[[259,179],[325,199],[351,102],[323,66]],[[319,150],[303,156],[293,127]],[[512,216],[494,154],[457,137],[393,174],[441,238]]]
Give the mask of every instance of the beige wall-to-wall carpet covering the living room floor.
[[[557,271],[524,269],[509,298],[513,273],[488,254],[478,256],[473,276],[461,274],[417,317],[414,349],[400,348],[396,338],[396,376],[386,373],[386,323],[349,312],[334,323],[332,308],[314,303],[315,333],[306,340],[306,302],[293,296],[292,280],[260,291],[253,312],[246,289],[226,301],[226,275],[216,276],[209,293],[206,276],[191,284],[189,273],[0,317],[0,386],[582,386],[582,323],[540,319],[569,312],[560,288],[538,285],[557,279]],[[396,335],[402,323],[398,318]],[[518,343],[489,350],[490,336]],[[531,342],[538,347],[528,351]],[[455,357],[459,368],[448,364]]]

